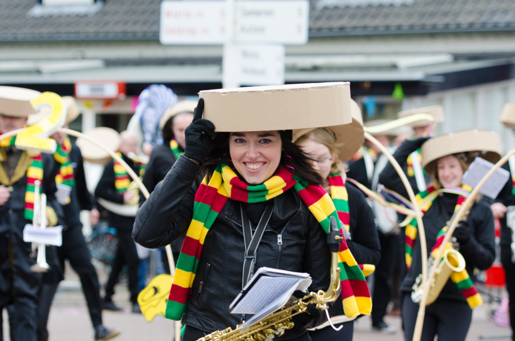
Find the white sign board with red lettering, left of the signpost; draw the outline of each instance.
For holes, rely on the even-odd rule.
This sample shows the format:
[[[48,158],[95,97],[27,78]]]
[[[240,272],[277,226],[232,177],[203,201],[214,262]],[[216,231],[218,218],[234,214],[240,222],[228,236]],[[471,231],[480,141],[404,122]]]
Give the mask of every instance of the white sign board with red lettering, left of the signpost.
[[[163,45],[221,45],[226,30],[225,1],[163,1],[159,41]]]

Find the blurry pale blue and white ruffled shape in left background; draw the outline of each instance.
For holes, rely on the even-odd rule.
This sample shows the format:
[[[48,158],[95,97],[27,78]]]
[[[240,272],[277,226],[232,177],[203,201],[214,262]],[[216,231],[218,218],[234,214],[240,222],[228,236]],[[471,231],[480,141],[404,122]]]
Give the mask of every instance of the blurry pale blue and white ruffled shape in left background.
[[[179,101],[177,95],[163,84],[152,84],[138,97],[138,106],[127,131],[136,139],[137,152],[150,156],[152,148],[163,143],[159,122],[165,110]]]

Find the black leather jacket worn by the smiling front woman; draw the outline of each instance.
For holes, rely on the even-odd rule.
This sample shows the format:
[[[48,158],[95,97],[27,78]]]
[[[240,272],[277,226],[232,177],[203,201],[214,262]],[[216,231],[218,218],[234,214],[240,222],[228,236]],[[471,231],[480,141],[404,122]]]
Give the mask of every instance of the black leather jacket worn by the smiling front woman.
[[[199,168],[183,155],[179,157],[138,212],[132,231],[136,243],[148,248],[162,247],[188,228],[200,183]],[[248,204],[248,208],[253,210],[253,205],[256,204]],[[331,266],[327,234],[293,189],[276,197],[274,205],[258,248],[255,269],[268,266],[308,272],[313,278],[310,291],[326,290]],[[261,207],[258,204],[255,209]],[[279,234],[282,245],[278,243]],[[231,314],[229,304],[242,289],[244,245],[240,203],[229,199],[205,238],[192,295],[182,319],[185,325],[210,333],[235,328],[241,322],[242,315]],[[325,314],[322,316],[306,327],[323,323]],[[296,338],[304,332],[294,328],[281,339]]]

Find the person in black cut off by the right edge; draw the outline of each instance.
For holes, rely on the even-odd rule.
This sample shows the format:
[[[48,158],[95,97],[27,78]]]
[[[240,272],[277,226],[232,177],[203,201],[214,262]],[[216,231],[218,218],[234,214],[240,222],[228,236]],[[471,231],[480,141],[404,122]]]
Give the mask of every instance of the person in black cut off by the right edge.
[[[515,105],[506,104],[501,115],[501,122],[508,128],[515,127]],[[493,216],[499,218],[501,222],[501,263],[506,274],[506,289],[509,295],[510,325],[511,330],[515,327],[515,219],[509,222],[508,227],[507,213],[515,209],[515,157],[511,156],[509,162],[503,168],[510,172],[512,180],[508,180],[506,185],[497,196],[497,202],[493,203]],[[512,217],[511,214],[509,214]],[[512,246],[513,245],[513,246]],[[515,340],[515,334],[511,336]]]

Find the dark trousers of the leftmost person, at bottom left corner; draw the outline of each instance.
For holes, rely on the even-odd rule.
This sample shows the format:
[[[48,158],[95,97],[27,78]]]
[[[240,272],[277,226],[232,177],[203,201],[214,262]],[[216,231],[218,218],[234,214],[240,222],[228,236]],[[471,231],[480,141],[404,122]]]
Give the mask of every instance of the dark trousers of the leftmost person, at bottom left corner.
[[[0,306],[0,341],[3,341],[2,312],[7,306]],[[9,305],[9,326],[11,341],[37,340],[37,304],[27,297],[14,297]]]

